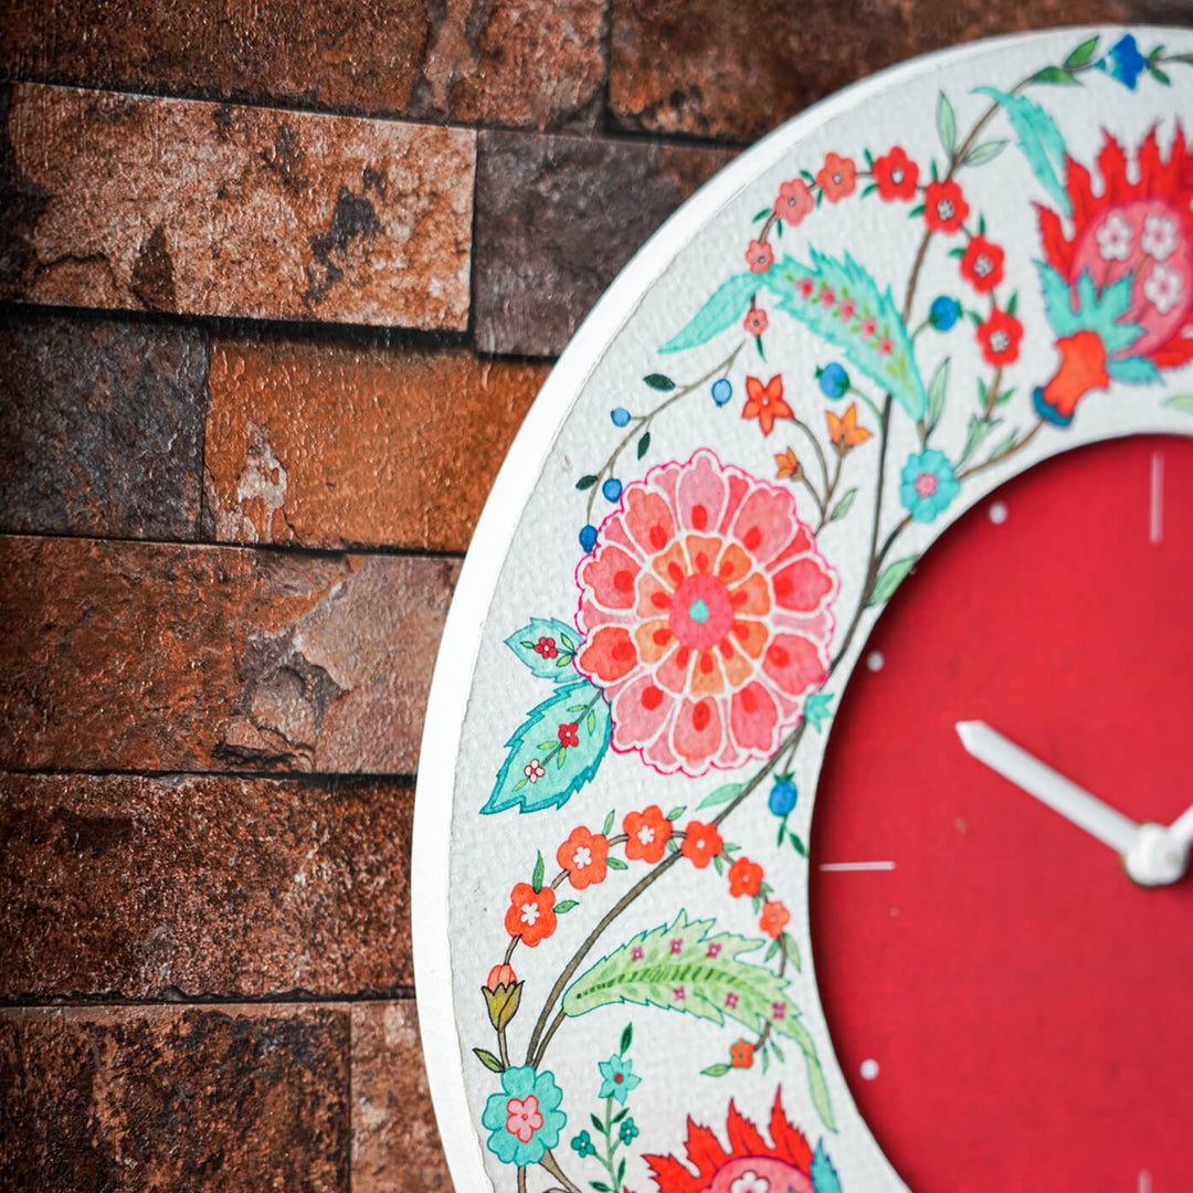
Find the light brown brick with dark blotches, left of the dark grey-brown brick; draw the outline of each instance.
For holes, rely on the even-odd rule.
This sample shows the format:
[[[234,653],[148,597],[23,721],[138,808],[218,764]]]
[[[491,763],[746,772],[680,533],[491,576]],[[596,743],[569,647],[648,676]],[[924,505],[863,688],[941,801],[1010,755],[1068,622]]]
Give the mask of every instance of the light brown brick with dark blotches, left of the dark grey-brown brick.
[[[0,296],[468,322],[470,131],[19,84],[8,137],[43,200],[2,234],[19,243]]]

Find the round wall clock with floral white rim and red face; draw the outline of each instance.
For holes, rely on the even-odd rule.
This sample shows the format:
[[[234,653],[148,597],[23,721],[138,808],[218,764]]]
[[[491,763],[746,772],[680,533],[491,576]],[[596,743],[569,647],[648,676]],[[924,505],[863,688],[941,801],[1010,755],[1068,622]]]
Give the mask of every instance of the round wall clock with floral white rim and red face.
[[[1191,100],[1180,30],[909,63],[577,333],[420,762],[459,1188],[1188,1187]]]

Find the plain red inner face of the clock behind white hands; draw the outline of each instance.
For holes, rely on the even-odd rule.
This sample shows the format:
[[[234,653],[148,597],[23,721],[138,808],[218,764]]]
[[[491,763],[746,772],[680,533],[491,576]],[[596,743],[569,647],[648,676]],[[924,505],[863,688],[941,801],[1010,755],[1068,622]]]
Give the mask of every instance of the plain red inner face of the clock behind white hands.
[[[1193,873],[1136,886],[954,729],[985,721],[1168,824],[1193,804],[1191,663],[1175,438],[1000,489],[866,644],[817,793],[812,950],[858,1108],[915,1193],[1193,1187]]]

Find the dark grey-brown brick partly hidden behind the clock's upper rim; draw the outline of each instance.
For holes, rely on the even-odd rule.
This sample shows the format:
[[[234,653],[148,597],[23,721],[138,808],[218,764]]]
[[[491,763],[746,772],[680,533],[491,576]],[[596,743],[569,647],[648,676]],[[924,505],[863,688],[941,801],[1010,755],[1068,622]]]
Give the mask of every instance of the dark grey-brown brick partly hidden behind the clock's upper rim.
[[[476,338],[482,352],[555,356],[617,272],[733,154],[482,132]]]

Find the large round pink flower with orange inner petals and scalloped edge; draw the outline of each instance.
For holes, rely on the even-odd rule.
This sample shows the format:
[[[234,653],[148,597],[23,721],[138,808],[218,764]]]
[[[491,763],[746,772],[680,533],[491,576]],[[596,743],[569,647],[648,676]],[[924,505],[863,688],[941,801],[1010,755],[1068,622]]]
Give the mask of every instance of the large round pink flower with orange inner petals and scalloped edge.
[[[613,749],[665,774],[768,758],[828,668],[837,580],[791,492],[707,450],[628,484],[576,581]]]

